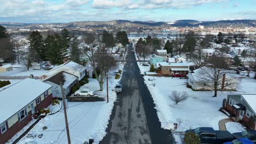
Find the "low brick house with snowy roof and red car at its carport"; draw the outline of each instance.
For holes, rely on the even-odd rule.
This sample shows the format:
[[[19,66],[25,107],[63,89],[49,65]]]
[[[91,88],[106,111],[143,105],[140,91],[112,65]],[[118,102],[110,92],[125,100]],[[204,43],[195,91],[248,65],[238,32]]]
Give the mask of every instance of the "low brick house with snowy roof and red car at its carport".
[[[187,75],[190,71],[189,63],[167,63],[160,62],[160,74],[162,75],[172,75],[175,73]]]

